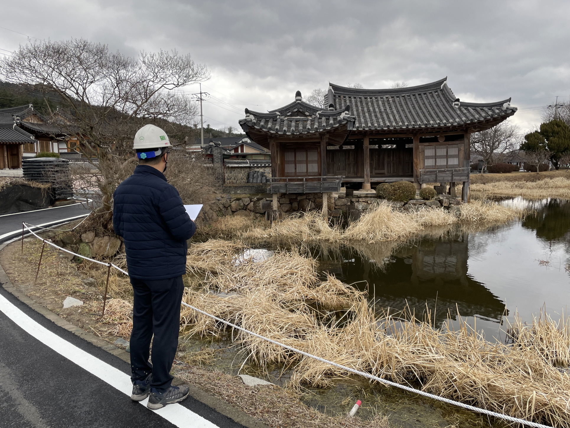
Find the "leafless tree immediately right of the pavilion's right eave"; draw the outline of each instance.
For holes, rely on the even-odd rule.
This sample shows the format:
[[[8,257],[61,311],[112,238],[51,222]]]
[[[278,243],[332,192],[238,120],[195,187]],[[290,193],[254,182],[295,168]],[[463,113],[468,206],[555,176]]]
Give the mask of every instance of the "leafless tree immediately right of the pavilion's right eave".
[[[516,125],[501,122],[498,125],[471,135],[471,152],[483,160],[483,171],[487,165],[501,160],[507,151],[514,150],[518,137]]]

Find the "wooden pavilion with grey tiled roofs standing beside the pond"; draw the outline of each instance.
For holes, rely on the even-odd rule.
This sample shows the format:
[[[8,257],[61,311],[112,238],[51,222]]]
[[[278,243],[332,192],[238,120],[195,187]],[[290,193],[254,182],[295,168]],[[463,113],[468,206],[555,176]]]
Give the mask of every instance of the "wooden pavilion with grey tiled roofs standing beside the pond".
[[[463,183],[469,195],[469,142],[515,114],[510,98],[462,102],[447,78],[392,89],[331,83],[328,109],[295,101],[239,120],[249,138],[271,152],[271,193],[334,192],[342,183],[370,189],[386,181]],[[361,184],[360,184],[361,183]]]

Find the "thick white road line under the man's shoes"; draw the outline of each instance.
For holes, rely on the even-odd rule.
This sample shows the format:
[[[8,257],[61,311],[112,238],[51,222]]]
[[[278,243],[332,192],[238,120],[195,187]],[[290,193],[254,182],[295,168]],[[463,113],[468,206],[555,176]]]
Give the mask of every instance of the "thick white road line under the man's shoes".
[[[70,344],[70,342],[62,339],[57,334],[50,332],[50,330],[44,328],[14,306],[6,297],[2,296],[2,294],[0,294],[0,310],[25,332],[35,337],[44,345],[131,397],[133,386],[128,374],[115,369],[106,362],[99,360],[99,358],[93,357],[77,346]],[[147,401],[148,398],[144,401],[140,401],[140,403],[145,406],[145,409]],[[154,413],[157,413],[180,428],[218,428],[214,423],[207,421],[207,419],[202,418],[200,415],[186,409],[186,407],[180,404],[169,404],[168,406],[162,407],[162,409],[149,411],[154,411]]]

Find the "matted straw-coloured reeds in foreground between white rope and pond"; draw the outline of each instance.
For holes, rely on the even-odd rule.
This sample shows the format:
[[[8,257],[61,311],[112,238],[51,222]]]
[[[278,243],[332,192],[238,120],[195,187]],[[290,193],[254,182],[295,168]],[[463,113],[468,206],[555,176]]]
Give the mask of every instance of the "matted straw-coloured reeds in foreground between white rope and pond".
[[[227,245],[227,247],[226,247]],[[232,252],[235,253],[231,256]],[[568,319],[544,314],[508,326],[511,344],[487,341],[465,322],[435,329],[429,312],[376,313],[363,292],[315,260],[276,252],[260,263],[236,264],[243,244],[193,245],[189,271],[204,278],[184,300],[224,320],[319,357],[394,382],[551,426],[570,427]],[[230,263],[229,263],[230,261]],[[234,261],[234,263],[231,263]],[[184,308],[189,336],[220,337],[225,325]],[[250,364],[291,370],[291,387],[331,387],[346,373],[242,332],[232,337]]]

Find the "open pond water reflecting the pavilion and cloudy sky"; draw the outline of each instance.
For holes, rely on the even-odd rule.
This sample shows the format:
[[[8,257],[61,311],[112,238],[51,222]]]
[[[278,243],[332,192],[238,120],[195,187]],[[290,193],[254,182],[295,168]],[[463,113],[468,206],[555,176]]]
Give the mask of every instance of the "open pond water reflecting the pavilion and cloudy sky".
[[[504,205],[535,215],[483,230],[455,229],[404,244],[320,249],[321,269],[369,289],[377,306],[416,314],[429,308],[435,324],[447,314],[475,317],[488,338],[518,312],[531,321],[544,304],[554,318],[570,302],[570,201],[514,198]],[[437,305],[436,305],[437,300]]]

